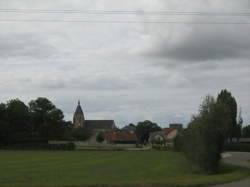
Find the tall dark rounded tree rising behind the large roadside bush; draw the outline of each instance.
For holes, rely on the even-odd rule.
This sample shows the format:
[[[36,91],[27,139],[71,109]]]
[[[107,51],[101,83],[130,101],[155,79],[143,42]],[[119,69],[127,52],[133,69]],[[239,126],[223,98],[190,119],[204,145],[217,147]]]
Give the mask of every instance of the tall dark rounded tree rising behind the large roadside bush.
[[[232,94],[227,90],[222,90],[217,97],[217,102],[227,108],[230,118],[227,124],[227,137],[232,141],[237,136],[237,103]]]

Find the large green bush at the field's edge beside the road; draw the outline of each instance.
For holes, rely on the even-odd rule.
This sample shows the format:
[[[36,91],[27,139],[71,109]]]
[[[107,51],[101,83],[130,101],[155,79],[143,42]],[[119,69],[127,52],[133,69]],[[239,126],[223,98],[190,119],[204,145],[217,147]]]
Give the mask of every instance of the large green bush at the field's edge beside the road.
[[[229,118],[227,108],[207,96],[199,114],[193,117],[182,134],[179,149],[192,163],[209,174],[218,172]]]

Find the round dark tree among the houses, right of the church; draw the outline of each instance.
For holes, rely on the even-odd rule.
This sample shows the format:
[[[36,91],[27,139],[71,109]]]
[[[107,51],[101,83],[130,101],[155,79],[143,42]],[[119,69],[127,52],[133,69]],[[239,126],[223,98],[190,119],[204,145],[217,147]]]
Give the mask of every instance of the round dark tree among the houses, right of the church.
[[[153,123],[149,120],[143,121],[143,122],[139,122],[136,126],[136,136],[139,139],[139,142],[141,144],[146,144],[148,143],[148,139],[149,139],[149,134],[151,132],[155,132],[155,131],[160,131],[161,128],[156,124]]]

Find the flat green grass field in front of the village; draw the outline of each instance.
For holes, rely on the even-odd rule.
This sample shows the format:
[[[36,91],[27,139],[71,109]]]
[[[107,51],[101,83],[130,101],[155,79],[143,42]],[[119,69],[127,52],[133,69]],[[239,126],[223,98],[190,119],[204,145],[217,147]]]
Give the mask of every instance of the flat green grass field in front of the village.
[[[195,173],[168,151],[0,151],[0,186],[200,185],[238,180],[249,170]]]

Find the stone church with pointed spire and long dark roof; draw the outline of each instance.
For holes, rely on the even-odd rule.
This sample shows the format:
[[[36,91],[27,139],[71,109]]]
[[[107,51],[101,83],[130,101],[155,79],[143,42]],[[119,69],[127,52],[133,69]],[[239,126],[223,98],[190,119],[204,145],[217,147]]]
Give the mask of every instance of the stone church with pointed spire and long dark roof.
[[[73,117],[74,127],[86,127],[93,131],[112,131],[116,128],[114,120],[86,120],[80,101],[76,107]]]

